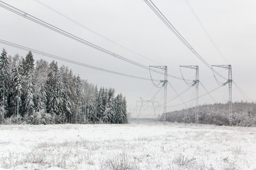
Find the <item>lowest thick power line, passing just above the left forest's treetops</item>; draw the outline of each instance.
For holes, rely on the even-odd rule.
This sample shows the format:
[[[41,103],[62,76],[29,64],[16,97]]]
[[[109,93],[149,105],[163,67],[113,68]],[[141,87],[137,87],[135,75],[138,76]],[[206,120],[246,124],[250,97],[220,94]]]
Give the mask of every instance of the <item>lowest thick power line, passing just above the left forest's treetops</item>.
[[[29,51],[29,50],[30,50],[31,52],[36,53],[36,54],[39,54],[39,55],[42,55],[42,56],[50,57],[50,58],[53,58],[53,59],[59,59],[60,61],[73,63],[73,64],[75,64],[75,65],[79,65],[79,66],[83,66],[83,67],[88,67],[88,68],[90,68],[90,69],[95,69],[95,70],[105,71],[105,72],[112,73],[112,74],[117,74],[117,75],[122,75],[122,76],[128,76],[128,77],[131,77],[131,78],[142,79],[142,80],[150,80],[150,81],[151,81],[151,79],[148,79],[148,78],[143,78],[143,77],[134,76],[134,75],[129,75],[129,74],[123,74],[123,73],[119,73],[119,72],[117,72],[117,71],[111,71],[111,70],[102,69],[102,68],[100,68],[100,67],[95,67],[95,66],[86,65],[86,64],[81,63],[81,62],[77,62],[77,61],[73,61],[73,60],[71,60],[71,59],[66,59],[66,58],[59,57],[59,56],[55,56],[55,55],[52,55],[52,54],[40,52],[39,50],[27,48],[27,47],[25,47],[25,46],[21,46],[21,45],[18,45],[18,44],[14,44],[14,43],[11,43],[11,42],[8,42],[8,41],[5,41],[5,40],[1,40],[1,39],[0,39],[0,43],[1,43],[1,44],[5,44],[5,45],[9,45],[9,46],[13,46],[14,48],[18,48],[18,49],[22,49],[22,50],[26,50],[26,51]]]

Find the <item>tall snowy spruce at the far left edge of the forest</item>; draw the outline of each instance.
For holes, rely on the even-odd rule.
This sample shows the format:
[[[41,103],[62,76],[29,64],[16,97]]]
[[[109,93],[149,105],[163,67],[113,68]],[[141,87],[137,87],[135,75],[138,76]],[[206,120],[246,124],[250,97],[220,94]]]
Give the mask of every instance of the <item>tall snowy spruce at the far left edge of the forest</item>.
[[[6,116],[7,112],[7,96],[10,87],[9,57],[5,48],[0,56],[0,120]]]

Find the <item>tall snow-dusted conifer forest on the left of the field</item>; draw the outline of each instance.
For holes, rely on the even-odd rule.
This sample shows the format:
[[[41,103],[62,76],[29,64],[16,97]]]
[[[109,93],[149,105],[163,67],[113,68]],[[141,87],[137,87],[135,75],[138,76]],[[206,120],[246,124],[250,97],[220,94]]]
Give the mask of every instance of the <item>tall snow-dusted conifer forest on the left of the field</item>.
[[[67,66],[40,59],[31,52],[0,56],[0,123],[85,124],[127,122],[126,99],[113,88],[88,83]]]

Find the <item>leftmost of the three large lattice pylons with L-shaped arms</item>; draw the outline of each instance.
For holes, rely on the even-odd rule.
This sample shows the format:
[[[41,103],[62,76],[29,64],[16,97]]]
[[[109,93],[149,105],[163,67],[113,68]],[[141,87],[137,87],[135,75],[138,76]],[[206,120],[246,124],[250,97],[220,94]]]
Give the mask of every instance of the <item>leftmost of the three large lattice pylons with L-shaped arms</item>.
[[[160,80],[160,83],[163,83],[163,87],[164,87],[163,122],[165,122],[166,121],[167,83],[168,83],[168,80],[167,80],[167,66],[150,66],[150,67],[154,67],[154,68],[157,68],[157,69],[164,70],[164,80]]]

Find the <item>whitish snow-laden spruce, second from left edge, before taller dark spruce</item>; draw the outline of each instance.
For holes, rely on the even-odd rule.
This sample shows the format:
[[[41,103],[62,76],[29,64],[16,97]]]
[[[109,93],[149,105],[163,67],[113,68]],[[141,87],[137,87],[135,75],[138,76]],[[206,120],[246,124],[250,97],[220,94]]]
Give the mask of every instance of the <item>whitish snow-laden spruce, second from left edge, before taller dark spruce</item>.
[[[16,113],[16,117],[18,117],[19,113],[19,108],[21,106],[21,95],[22,95],[22,75],[20,74],[20,72],[22,72],[22,66],[20,65],[19,61],[16,60],[14,67],[12,69],[13,72],[13,89],[11,90],[13,93],[13,96],[15,96],[15,105],[16,105],[16,109],[15,109],[15,113]]]

